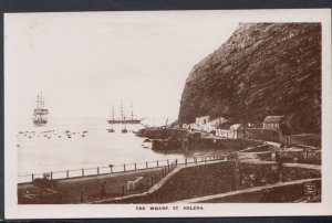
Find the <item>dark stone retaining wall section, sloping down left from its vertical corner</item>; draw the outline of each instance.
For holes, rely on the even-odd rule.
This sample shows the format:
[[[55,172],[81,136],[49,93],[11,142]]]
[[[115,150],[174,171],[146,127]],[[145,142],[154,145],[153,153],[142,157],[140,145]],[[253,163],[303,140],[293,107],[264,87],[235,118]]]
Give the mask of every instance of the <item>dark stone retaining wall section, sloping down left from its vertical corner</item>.
[[[167,203],[235,189],[234,161],[180,168],[149,192],[97,203]]]

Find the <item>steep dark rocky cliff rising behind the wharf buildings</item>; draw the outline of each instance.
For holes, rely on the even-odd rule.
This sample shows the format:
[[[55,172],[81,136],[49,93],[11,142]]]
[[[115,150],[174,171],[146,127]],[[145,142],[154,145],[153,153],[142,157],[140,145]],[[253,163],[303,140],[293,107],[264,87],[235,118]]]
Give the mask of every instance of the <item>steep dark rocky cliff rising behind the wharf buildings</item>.
[[[321,131],[321,24],[241,23],[196,64],[179,123],[210,115],[232,123],[287,117],[291,134]]]

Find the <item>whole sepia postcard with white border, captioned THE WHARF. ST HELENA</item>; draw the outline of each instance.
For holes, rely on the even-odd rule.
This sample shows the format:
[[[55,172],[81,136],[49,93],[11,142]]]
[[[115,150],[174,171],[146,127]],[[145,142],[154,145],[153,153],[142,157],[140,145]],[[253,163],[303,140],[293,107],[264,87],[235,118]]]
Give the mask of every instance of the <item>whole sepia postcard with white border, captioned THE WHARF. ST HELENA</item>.
[[[331,204],[330,17],[4,14],[9,215],[319,213]]]

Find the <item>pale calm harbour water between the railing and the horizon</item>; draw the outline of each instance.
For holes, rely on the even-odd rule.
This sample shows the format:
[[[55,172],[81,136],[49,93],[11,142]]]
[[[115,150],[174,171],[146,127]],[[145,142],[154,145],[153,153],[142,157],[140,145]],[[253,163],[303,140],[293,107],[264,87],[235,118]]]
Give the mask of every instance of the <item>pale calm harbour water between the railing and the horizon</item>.
[[[19,174],[184,158],[153,151],[133,132],[141,125],[126,125],[127,134],[123,125],[114,125],[115,132],[106,130],[111,127],[105,119],[53,119],[40,127],[20,121],[19,131],[29,132],[18,135]]]

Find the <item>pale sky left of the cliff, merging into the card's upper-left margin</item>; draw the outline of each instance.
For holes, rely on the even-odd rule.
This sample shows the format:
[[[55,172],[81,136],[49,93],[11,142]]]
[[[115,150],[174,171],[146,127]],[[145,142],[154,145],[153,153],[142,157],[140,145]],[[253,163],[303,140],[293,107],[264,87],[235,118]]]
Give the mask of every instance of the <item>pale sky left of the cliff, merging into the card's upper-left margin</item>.
[[[31,118],[42,91],[50,118],[129,115],[177,119],[193,66],[239,21],[222,11],[10,13],[4,75],[17,79],[18,116]]]

